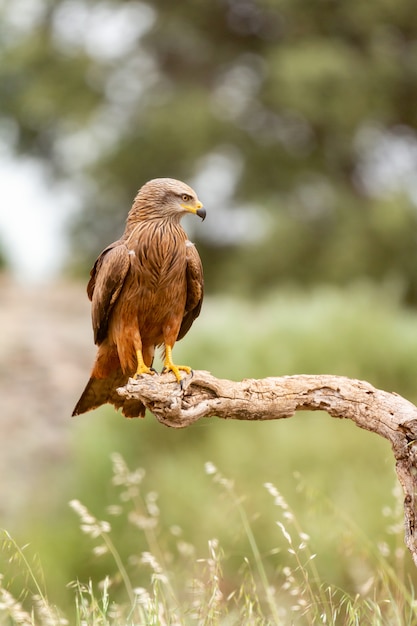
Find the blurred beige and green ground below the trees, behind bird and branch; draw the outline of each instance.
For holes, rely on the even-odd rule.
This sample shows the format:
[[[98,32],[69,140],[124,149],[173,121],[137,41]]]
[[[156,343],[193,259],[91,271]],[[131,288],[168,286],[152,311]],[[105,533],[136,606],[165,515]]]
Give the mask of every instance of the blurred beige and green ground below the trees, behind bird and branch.
[[[392,493],[392,452],[381,437],[320,413],[264,423],[202,420],[183,430],[164,428],[151,416],[117,419],[111,407],[71,419],[95,352],[85,283],[29,289],[0,276],[0,323],[0,528],[39,555],[59,606],[72,606],[69,581],[97,583],[109,571],[80,539],[68,502],[79,499],[98,519],[108,519],[109,504],[121,502],[112,484],[114,452],[145,471],[143,497],[158,494],[167,545],[172,527],[199,556],[217,538],[229,578],[239,578],[237,555],[250,554],[250,546],[236,531],[236,503],[219,494],[206,461],[235,481],[259,550],[269,555],[271,580],[286,564],[287,550],[277,537],[267,482],[288,499],[297,524],[310,535],[323,580],[356,594],[377,562],[369,546],[373,554],[379,542],[387,544],[390,566],[398,570],[402,520],[395,534],[387,527],[397,528],[402,513],[399,507],[397,515]],[[415,311],[400,305],[396,287],[287,287],[259,300],[207,297],[175,354],[178,362],[218,377],[333,373],[416,402],[416,326]],[[394,513],[381,514],[388,509]],[[136,527],[127,531],[123,517],[112,517],[112,528],[126,559],[148,549]],[[407,575],[414,571],[408,555],[404,567]],[[147,574],[139,569],[135,585],[143,586]]]

